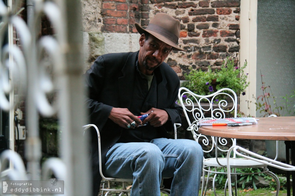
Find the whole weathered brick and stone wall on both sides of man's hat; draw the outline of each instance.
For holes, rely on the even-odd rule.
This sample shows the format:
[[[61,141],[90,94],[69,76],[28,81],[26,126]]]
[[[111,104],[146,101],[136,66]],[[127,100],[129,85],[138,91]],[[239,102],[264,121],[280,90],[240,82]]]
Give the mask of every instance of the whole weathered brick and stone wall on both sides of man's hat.
[[[87,4],[90,8],[90,1],[94,0],[82,0],[84,10]],[[95,4],[100,4],[98,9],[92,8],[93,14],[100,16],[97,20],[96,32],[105,39],[102,42],[109,41],[107,44],[102,44],[105,50],[100,51],[101,54],[113,50],[114,52],[126,52],[128,49],[136,51],[139,35],[134,23],[138,22],[143,27],[147,26],[149,19],[156,13],[165,12],[181,22],[179,46],[187,51],[172,52],[166,59],[180,79],[184,79],[183,74],[189,72],[190,68],[206,71],[210,66],[212,69],[218,69],[222,59],[227,55],[239,59],[240,0],[102,0],[95,1]],[[87,28],[94,28],[93,22],[91,22],[91,27],[87,27],[87,20],[84,17],[85,32]],[[129,38],[124,37],[126,35],[129,35]],[[130,38],[130,36],[133,37]],[[129,45],[133,45],[129,48],[122,47],[120,43],[123,39],[127,39],[126,42],[129,41]],[[111,43],[117,43],[117,45]],[[108,47],[111,49],[107,49]],[[88,53],[91,57],[91,60],[88,60],[89,63],[101,55],[91,54],[91,49]]]

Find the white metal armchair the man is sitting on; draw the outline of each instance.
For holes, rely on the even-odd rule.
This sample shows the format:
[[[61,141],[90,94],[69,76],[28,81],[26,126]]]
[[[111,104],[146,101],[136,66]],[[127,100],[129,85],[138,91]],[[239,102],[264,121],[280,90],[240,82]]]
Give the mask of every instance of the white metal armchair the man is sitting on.
[[[176,130],[176,126],[180,126],[180,124],[175,124],[174,128]],[[90,127],[94,127],[96,129],[97,132],[97,137],[98,137],[98,151],[99,151],[99,155],[101,155],[101,141],[100,141],[100,134],[99,134],[99,130],[96,127],[96,125],[94,124],[87,124],[85,126],[83,126],[84,128],[84,133],[86,131],[86,129],[89,129]],[[101,156],[99,156],[99,172],[100,175],[102,177],[101,183],[103,183],[102,188],[100,188],[101,191],[101,195],[104,194],[105,192],[105,196],[107,196],[110,192],[120,192],[119,196],[126,194],[126,196],[128,196],[128,193],[130,193],[130,189],[127,190],[126,187],[126,182],[133,182],[133,179],[122,179],[122,178],[110,178],[110,177],[105,177],[102,173],[102,164],[101,164]],[[120,182],[122,183],[122,189],[113,189],[111,187],[111,182]],[[105,187],[105,184],[107,183],[107,187]],[[168,196],[170,195],[170,190],[169,189],[165,189],[164,185],[163,185],[163,179],[161,181],[161,185],[160,185],[160,191],[167,194]]]

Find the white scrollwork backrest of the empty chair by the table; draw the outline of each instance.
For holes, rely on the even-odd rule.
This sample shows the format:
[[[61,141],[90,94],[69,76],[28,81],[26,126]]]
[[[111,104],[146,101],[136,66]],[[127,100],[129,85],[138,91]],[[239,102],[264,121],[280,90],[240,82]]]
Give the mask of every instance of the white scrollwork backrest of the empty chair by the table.
[[[237,95],[232,89],[223,88],[209,95],[198,95],[181,87],[178,91],[178,100],[189,124],[187,130],[191,131],[196,142],[202,143],[206,147],[203,147],[205,153],[211,152],[215,146],[217,155],[218,150],[228,151],[224,147],[221,148],[220,145],[231,144],[232,146],[236,144],[235,139],[219,138],[218,141],[215,141],[214,137],[198,132],[200,120],[237,117]],[[220,144],[219,147],[216,142]]]

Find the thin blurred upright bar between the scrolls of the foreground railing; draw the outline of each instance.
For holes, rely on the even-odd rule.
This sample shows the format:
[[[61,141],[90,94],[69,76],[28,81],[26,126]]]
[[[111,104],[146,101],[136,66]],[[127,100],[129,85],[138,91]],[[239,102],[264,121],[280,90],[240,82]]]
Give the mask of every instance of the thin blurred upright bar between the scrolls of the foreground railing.
[[[26,101],[26,127],[28,137],[26,141],[27,171],[29,179],[40,180],[40,159],[41,159],[41,140],[39,138],[39,114],[35,104],[35,93],[37,84],[37,59],[36,59],[36,39],[34,26],[34,4],[32,0],[27,0],[27,23],[31,31],[32,42],[31,50],[26,51],[27,70],[28,70],[28,90]]]

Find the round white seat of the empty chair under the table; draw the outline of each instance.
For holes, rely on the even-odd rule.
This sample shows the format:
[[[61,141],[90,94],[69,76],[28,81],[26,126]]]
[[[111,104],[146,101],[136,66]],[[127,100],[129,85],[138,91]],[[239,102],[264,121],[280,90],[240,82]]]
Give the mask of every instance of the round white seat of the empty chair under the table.
[[[218,158],[218,161],[222,165],[227,165],[227,160],[226,158]],[[209,158],[209,159],[204,159],[203,161],[204,166],[210,166],[210,167],[221,167],[217,161],[216,158]],[[250,159],[246,158],[230,158],[230,167],[232,168],[249,168],[250,167],[265,167],[265,164],[262,164],[257,161],[253,161]]]

